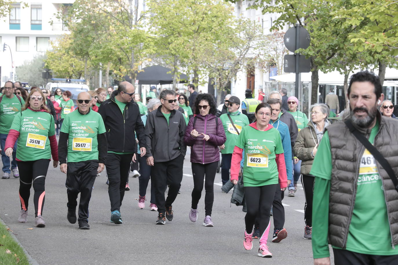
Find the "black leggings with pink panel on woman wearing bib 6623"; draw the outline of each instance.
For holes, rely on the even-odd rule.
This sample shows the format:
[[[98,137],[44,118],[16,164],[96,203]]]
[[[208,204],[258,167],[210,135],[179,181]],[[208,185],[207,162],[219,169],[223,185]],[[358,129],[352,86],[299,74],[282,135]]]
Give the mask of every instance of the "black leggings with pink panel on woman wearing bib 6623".
[[[246,232],[252,233],[254,222],[259,215],[260,243],[267,241],[269,231],[269,212],[275,197],[277,184],[259,187],[245,187],[247,213],[245,216]]]

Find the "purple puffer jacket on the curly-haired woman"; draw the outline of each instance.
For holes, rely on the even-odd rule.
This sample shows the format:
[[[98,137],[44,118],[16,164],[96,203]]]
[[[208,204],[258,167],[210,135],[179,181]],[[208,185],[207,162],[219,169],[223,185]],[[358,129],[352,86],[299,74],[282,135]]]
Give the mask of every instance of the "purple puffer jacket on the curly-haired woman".
[[[226,141],[224,127],[220,118],[217,118],[213,114],[207,114],[206,116],[196,115],[195,130],[199,133],[199,136],[194,138],[191,135],[193,128],[192,117],[187,125],[185,131],[184,142],[188,146],[192,146],[191,149],[191,162],[208,164],[216,161],[220,161],[219,146],[223,145]],[[218,126],[216,124],[218,121]],[[205,133],[209,135],[210,139],[205,141],[203,135]]]

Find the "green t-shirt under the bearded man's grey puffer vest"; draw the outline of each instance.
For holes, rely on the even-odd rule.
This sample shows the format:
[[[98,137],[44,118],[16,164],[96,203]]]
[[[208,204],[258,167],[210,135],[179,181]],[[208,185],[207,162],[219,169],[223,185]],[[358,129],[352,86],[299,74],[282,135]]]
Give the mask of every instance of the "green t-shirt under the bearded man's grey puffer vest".
[[[378,130],[379,123],[377,122],[369,136],[369,141],[372,144]],[[397,255],[398,248],[392,249],[391,246],[392,240],[382,180],[378,174],[376,161],[367,149],[363,153],[359,166],[357,193],[346,249],[369,255]],[[332,154],[327,131],[320,142],[310,174],[329,181],[331,179]],[[329,191],[326,194],[329,194]],[[328,207],[325,208],[325,213],[317,213],[317,215],[321,215],[324,218],[322,223],[327,224]]]

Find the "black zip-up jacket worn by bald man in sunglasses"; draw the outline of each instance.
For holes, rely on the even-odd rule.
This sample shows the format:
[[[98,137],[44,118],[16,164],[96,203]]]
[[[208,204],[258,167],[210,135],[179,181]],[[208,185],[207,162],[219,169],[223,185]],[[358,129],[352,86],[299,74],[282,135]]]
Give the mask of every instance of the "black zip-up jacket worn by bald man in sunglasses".
[[[144,124],[141,120],[137,103],[126,104],[123,113],[115,101],[119,91],[113,91],[111,98],[101,103],[98,113],[101,114],[106,129],[108,151],[135,153],[135,135],[140,147],[146,147]]]

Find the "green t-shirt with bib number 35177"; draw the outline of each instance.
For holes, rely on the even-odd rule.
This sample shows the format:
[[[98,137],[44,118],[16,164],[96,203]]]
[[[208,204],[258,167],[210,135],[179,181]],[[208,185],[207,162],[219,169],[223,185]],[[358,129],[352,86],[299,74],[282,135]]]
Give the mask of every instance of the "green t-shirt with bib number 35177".
[[[90,110],[83,115],[76,110],[66,115],[61,132],[68,133],[68,162],[98,160],[97,135],[105,133],[99,113]]]

